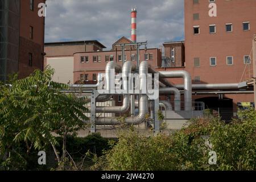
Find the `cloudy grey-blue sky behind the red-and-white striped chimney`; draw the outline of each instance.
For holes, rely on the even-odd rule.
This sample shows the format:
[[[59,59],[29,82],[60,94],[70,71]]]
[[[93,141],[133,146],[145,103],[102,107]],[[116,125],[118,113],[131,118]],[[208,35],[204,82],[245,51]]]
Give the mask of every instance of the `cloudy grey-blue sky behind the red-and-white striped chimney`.
[[[183,0],[47,0],[46,42],[98,40],[108,49],[130,38],[137,7],[137,41],[148,47],[184,39]]]

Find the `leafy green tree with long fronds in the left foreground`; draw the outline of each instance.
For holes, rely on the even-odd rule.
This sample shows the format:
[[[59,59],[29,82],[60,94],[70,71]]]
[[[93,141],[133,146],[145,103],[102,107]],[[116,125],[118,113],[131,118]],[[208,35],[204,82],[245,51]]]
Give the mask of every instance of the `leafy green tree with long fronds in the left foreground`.
[[[85,127],[85,98],[62,93],[68,85],[51,81],[53,73],[51,68],[36,70],[24,79],[11,79],[11,87],[0,85],[0,162],[5,169],[18,169],[12,162],[16,158],[25,164],[18,147],[21,142],[29,154],[32,148],[55,146],[53,132],[62,136]]]

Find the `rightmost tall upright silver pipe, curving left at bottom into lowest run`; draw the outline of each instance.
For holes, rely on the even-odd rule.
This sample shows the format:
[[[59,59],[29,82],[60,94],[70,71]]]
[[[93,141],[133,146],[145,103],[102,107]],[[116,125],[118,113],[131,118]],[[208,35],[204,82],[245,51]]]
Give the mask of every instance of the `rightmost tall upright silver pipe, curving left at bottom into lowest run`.
[[[144,74],[147,75],[148,64],[147,61],[142,61],[139,65],[139,75],[140,75],[140,85],[144,86],[147,82],[146,77],[142,76]],[[146,79],[146,80],[144,80]],[[125,119],[125,123],[139,125],[143,121],[145,121],[146,113],[148,111],[147,107],[148,98],[146,95],[142,95],[139,98],[139,115],[136,117],[128,117]],[[120,122],[118,118],[96,118],[96,125],[118,125]]]

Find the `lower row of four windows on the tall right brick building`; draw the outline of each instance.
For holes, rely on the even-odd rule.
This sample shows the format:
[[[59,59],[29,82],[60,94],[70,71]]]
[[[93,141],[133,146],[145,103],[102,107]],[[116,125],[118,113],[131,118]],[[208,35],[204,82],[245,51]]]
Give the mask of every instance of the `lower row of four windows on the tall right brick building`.
[[[243,56],[243,63],[244,64],[251,64],[250,56],[245,55]],[[226,64],[227,65],[233,65],[233,56],[226,56]],[[216,57],[210,57],[210,66],[214,67],[217,65],[217,58]],[[195,57],[194,58],[194,67],[200,67],[200,58]]]

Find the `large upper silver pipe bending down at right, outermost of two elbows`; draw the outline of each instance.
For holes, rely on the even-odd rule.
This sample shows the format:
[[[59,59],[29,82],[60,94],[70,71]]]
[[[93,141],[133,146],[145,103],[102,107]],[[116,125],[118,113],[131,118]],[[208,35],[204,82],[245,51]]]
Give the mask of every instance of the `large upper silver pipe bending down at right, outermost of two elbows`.
[[[185,110],[192,110],[192,81],[187,71],[163,71],[159,72],[162,78],[184,78],[184,102]]]

